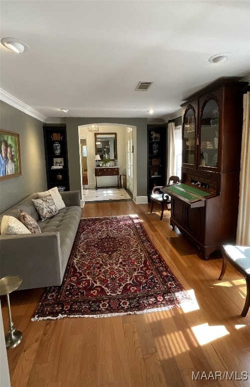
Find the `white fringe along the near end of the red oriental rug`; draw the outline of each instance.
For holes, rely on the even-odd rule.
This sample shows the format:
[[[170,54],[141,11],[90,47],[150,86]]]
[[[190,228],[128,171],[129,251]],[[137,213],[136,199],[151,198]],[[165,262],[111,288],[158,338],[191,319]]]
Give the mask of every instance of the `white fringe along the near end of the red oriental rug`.
[[[32,317],[31,321],[41,321],[41,320],[59,320],[60,318],[64,317],[90,317],[90,318],[102,318],[102,317],[115,317],[115,316],[125,316],[127,314],[146,314],[146,313],[153,313],[153,312],[160,312],[163,310],[170,310],[174,307],[180,307],[181,304],[176,304],[176,305],[169,305],[169,306],[163,306],[160,308],[152,308],[152,309],[145,309],[145,310],[136,310],[136,311],[131,311],[131,312],[118,312],[118,313],[103,313],[103,314],[76,314],[76,315],[68,315],[68,314],[59,314],[57,317],[51,317],[51,316],[46,316],[46,317],[37,317],[34,316]]]

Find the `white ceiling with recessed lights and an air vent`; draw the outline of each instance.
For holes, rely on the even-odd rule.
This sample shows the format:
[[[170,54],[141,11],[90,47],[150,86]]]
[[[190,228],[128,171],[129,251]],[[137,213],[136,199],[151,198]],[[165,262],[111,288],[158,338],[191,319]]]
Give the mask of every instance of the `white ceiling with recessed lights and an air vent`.
[[[250,74],[250,1],[1,0],[0,6],[1,39],[30,46],[16,54],[0,44],[1,99],[15,97],[45,118],[166,119],[209,83]],[[221,52],[231,54],[227,61],[208,62]],[[140,81],[153,84],[135,91]]]

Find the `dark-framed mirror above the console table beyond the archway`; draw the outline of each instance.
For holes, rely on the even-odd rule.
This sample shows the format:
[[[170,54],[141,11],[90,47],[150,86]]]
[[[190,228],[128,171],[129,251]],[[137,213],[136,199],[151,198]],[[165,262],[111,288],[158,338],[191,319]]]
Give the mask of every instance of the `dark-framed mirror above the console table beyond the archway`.
[[[116,133],[95,133],[95,154],[100,159],[117,159],[117,139]]]

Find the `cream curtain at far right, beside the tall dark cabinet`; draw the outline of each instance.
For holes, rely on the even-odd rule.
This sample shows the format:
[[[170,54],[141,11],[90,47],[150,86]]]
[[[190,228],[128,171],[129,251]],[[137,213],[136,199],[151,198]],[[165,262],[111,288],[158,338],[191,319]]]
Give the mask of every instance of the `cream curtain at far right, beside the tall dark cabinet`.
[[[239,175],[236,244],[250,246],[250,93],[243,95],[243,128]]]

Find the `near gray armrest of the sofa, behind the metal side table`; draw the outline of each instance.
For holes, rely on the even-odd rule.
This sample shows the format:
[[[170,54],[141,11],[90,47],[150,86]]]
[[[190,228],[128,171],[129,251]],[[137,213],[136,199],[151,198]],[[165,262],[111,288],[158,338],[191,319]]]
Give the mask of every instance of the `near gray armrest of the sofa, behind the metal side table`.
[[[19,290],[60,285],[63,274],[58,231],[0,236],[0,278],[20,275]]]

